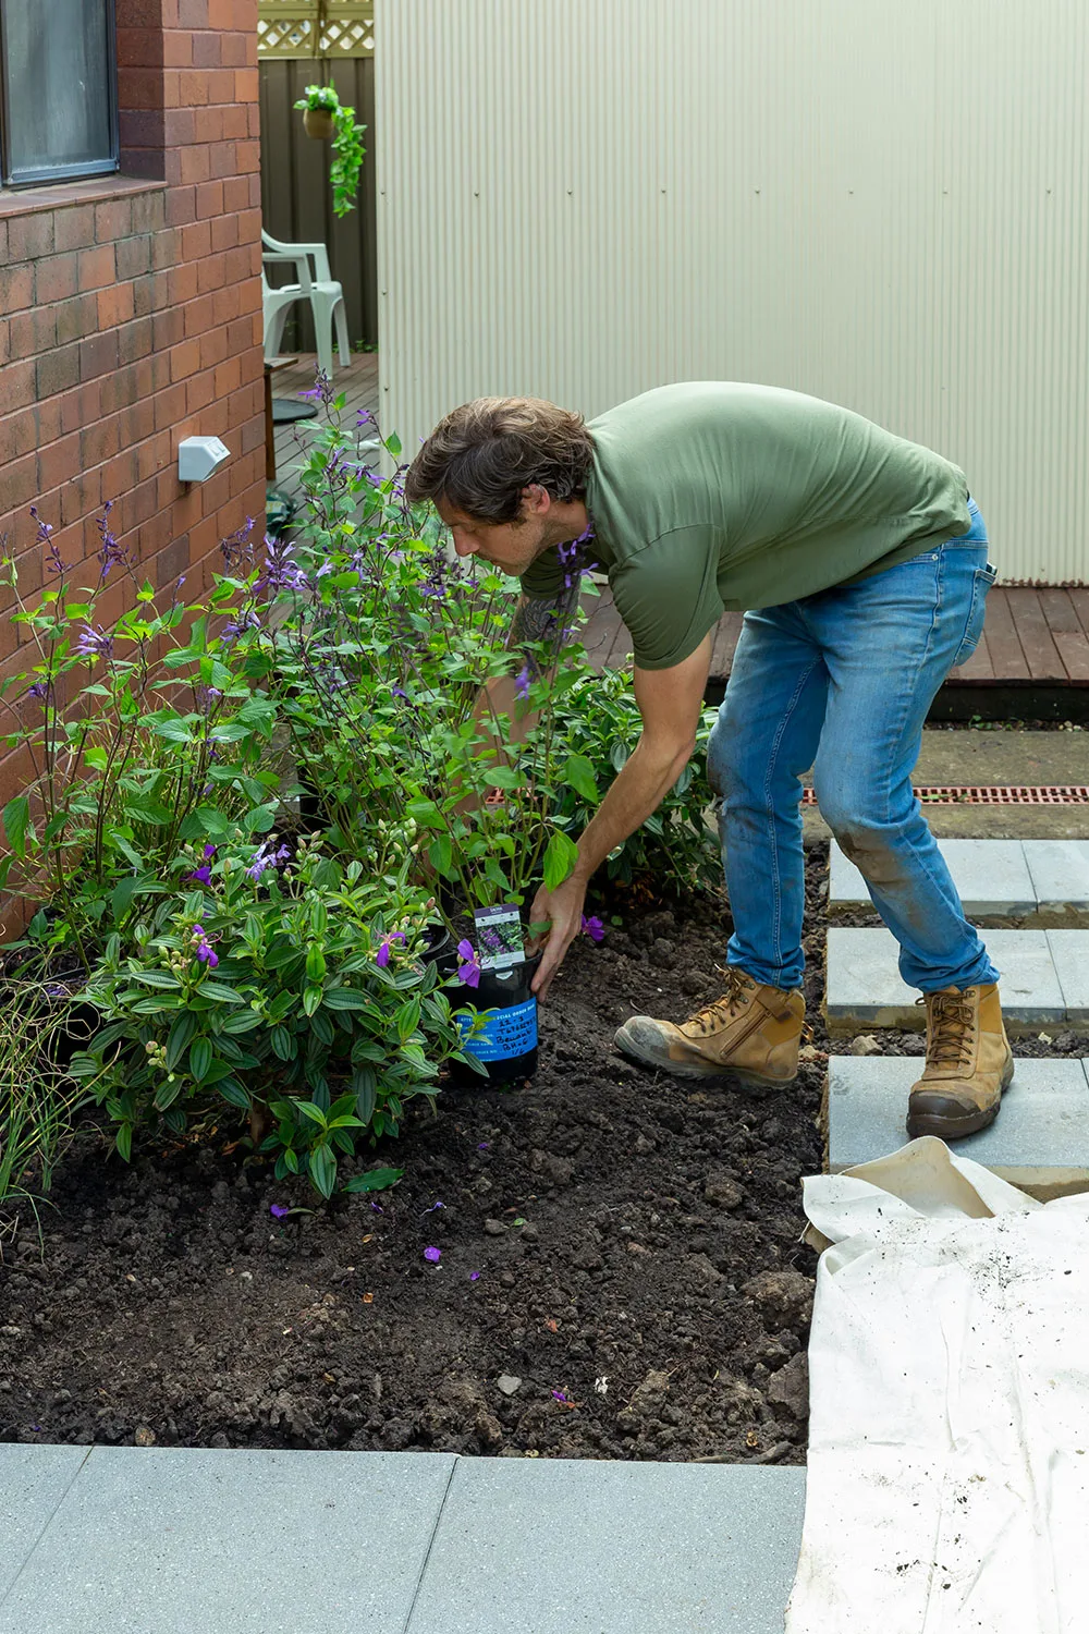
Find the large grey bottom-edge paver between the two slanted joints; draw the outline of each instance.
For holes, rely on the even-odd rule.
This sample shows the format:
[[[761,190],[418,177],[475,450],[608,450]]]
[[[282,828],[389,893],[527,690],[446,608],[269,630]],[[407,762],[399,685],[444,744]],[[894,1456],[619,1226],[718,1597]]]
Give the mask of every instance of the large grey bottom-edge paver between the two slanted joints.
[[[403,1634],[452,1469],[438,1453],[95,1448],[0,1631]]]

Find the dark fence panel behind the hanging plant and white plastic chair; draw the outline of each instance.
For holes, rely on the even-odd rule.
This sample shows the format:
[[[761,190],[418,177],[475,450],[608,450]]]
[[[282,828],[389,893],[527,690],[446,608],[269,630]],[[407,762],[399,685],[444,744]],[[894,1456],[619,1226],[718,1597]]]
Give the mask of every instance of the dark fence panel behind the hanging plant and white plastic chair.
[[[377,342],[377,245],[376,245],[376,147],[374,57],[340,62],[315,59],[263,59],[261,78],[261,217],[274,239],[327,245],[333,278],[344,286],[348,330],[354,342]],[[317,142],[302,129],[302,114],[292,106],[305,85],[336,85],[341,103],[356,109],[366,124],[367,150],[356,208],[348,216],[333,214],[328,181],[330,142]],[[284,284],[291,268],[269,268],[269,283]],[[296,325],[292,328],[292,324]],[[313,351],[313,324],[302,304],[292,309],[284,346]]]

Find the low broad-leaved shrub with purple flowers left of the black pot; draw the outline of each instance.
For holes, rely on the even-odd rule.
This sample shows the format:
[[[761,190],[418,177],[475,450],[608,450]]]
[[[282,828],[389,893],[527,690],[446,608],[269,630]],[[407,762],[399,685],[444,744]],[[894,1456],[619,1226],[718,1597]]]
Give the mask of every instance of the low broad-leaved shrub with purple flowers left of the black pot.
[[[405,1101],[462,1059],[438,971],[418,958],[428,900],[405,864],[367,879],[310,838],[292,855],[233,830],[183,866],[175,894],[109,938],[85,989],[106,1025],[72,1072],[126,1159],[142,1123],[180,1134],[219,1100],[269,1114],[251,1127],[276,1176],[330,1196],[338,1152],[397,1134]]]

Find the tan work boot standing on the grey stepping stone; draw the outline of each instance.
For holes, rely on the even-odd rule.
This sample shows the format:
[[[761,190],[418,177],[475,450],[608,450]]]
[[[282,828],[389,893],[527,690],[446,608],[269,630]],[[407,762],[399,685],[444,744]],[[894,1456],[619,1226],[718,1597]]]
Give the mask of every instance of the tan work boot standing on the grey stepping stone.
[[[926,1005],[926,1070],[911,1090],[908,1134],[960,1141],[998,1118],[1014,1056],[998,987],[944,987]]]

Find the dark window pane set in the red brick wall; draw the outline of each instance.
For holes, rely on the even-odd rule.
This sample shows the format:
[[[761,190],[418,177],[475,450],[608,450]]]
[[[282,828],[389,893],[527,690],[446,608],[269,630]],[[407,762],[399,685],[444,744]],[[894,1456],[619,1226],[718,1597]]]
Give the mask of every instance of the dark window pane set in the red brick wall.
[[[111,0],[0,0],[5,173],[116,168]]]

